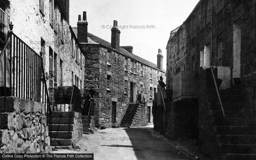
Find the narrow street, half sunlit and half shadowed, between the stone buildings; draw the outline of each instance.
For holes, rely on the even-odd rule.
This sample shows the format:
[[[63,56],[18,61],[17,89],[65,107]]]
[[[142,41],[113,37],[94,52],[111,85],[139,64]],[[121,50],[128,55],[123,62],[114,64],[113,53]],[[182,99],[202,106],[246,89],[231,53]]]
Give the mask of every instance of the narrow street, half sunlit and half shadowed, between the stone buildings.
[[[95,134],[83,134],[77,143],[80,149],[56,149],[53,153],[94,153],[94,160],[193,160],[150,130],[153,125],[97,130]]]

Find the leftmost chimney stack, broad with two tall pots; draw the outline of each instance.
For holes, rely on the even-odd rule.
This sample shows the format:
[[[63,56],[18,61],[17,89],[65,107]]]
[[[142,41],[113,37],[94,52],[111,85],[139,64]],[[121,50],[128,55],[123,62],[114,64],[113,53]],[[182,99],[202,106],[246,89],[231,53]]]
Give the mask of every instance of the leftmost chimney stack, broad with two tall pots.
[[[77,22],[77,38],[79,43],[88,43],[88,31],[87,31],[87,18],[86,12],[83,12],[83,20],[81,20],[81,15],[78,15],[78,22]]]

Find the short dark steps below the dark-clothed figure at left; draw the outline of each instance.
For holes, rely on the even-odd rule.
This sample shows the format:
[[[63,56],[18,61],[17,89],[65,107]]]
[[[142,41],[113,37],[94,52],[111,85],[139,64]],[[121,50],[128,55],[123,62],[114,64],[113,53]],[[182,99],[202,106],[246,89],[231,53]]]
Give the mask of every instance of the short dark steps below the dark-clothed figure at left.
[[[83,134],[94,134],[94,116],[82,115]]]

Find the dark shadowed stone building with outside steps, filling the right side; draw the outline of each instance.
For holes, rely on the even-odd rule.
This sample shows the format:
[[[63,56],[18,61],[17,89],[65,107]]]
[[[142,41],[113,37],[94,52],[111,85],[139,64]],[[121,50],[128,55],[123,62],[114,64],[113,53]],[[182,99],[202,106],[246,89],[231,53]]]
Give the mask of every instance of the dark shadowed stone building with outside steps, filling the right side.
[[[167,42],[166,136],[213,159],[256,158],[255,6],[200,0]]]

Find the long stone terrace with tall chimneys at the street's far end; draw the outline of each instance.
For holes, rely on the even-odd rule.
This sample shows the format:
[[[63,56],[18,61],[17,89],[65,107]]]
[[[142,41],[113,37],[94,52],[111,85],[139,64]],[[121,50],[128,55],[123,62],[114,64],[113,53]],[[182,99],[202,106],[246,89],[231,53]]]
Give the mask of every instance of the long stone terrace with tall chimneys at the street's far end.
[[[140,102],[143,103],[143,106],[138,108],[141,118],[137,120],[132,118],[129,122],[133,121],[132,126],[146,125],[152,117],[157,81],[160,76],[164,81],[166,77],[163,69],[163,56],[159,49],[156,65],[136,56],[132,52],[132,46],[120,46],[120,30],[117,28],[117,21],[114,20],[113,24],[111,43],[87,31],[86,12],[83,13],[83,19],[79,15],[77,27],[73,27],[82,50],[85,52],[84,92],[88,93],[90,89],[96,92],[94,119],[97,127],[119,125],[128,127],[129,119],[127,122],[122,122],[122,119],[130,117],[131,110],[134,114],[138,114],[135,111],[139,106],[133,104],[139,103],[139,95]]]

